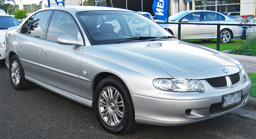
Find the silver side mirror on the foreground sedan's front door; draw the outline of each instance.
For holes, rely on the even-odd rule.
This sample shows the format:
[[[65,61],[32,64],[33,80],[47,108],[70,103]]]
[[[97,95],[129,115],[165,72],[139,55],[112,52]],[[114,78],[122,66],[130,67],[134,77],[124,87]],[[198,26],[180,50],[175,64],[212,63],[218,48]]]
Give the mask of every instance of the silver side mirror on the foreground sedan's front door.
[[[84,43],[81,39],[76,39],[74,36],[71,35],[61,35],[57,38],[57,42],[59,44],[64,45],[75,45],[75,46],[83,46]]]

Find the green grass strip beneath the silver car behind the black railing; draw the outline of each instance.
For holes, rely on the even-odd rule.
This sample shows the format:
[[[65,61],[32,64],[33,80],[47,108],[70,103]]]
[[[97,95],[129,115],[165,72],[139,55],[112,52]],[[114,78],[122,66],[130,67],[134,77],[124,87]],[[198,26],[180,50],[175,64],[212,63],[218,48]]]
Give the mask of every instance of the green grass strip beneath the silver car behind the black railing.
[[[188,43],[193,43],[193,44],[199,44],[199,45],[203,45],[203,46],[206,46],[206,47],[210,47],[212,49],[215,49],[216,50],[216,43],[217,43],[217,40],[211,40],[209,43],[204,43],[203,41],[201,40],[184,40],[185,42],[188,42]],[[223,50],[232,50],[234,49],[235,47],[237,47],[237,45],[239,44],[244,44],[246,43],[247,41],[246,40],[235,40],[235,39],[231,39],[230,43],[228,44],[220,44],[220,51],[223,51]]]

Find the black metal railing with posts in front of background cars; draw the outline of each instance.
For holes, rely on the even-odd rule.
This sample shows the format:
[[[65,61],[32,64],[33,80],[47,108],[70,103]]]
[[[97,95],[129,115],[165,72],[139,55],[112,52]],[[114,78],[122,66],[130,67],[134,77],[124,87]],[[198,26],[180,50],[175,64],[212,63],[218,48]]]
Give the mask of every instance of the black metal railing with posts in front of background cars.
[[[225,24],[225,23],[185,23],[185,22],[156,22],[158,24],[178,24],[178,39],[181,39],[181,25],[192,24],[192,25],[216,25],[217,26],[217,47],[216,50],[220,51],[221,42],[221,25],[226,26],[256,26],[256,24]]]

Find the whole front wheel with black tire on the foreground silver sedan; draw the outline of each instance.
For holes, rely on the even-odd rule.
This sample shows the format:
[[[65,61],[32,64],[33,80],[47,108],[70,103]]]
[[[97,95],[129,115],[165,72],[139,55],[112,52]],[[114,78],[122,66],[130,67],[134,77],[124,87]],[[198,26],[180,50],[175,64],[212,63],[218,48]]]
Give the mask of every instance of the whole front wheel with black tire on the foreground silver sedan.
[[[112,92],[111,95],[109,92]],[[109,99],[109,96],[112,98]],[[99,123],[110,133],[124,134],[138,127],[130,92],[116,76],[100,81],[95,89],[93,105]]]

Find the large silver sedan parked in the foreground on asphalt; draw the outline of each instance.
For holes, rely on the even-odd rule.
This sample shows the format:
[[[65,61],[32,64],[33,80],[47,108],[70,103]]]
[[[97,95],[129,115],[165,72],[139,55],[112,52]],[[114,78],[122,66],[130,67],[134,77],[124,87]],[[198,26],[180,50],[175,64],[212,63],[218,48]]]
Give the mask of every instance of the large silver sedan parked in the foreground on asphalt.
[[[135,33],[142,24],[147,36]],[[94,108],[116,134],[204,121],[245,105],[251,92],[236,59],[125,9],[45,8],[10,30],[5,44],[15,89],[32,82]]]

